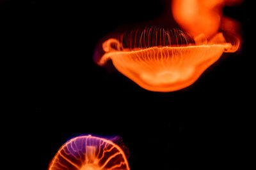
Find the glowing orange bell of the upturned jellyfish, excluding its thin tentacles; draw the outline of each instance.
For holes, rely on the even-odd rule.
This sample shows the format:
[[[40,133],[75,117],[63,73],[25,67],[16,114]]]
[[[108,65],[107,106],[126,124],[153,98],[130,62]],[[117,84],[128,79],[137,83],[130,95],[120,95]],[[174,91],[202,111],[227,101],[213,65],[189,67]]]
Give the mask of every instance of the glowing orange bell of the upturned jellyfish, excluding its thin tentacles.
[[[116,39],[109,39],[103,44],[106,54],[99,64],[111,59],[120,73],[147,90],[180,90],[194,83],[205,69],[232,46],[225,43],[222,34],[217,34],[213,42],[209,43],[202,37],[196,40],[198,42],[195,45],[153,46],[134,50],[118,50],[122,45]]]

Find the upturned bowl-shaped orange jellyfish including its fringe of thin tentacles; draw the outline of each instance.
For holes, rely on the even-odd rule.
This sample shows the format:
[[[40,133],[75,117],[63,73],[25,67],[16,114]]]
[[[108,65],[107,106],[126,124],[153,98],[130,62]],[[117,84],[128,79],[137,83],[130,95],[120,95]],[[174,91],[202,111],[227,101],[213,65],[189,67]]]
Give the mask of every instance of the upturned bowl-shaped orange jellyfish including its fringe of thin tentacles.
[[[223,52],[232,52],[232,48],[221,32],[211,39],[200,34],[191,41],[179,30],[147,28],[128,38],[104,41],[105,53],[97,64],[103,66],[112,60],[120,73],[143,89],[172,92],[194,83]]]

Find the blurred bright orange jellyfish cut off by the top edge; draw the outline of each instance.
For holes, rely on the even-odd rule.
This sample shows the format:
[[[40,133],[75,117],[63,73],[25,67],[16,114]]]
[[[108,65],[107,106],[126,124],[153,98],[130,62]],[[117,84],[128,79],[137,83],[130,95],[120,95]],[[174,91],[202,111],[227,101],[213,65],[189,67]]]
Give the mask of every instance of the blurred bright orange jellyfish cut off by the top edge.
[[[205,34],[211,38],[219,32],[223,7],[243,0],[173,0],[172,13],[176,22],[192,36]]]

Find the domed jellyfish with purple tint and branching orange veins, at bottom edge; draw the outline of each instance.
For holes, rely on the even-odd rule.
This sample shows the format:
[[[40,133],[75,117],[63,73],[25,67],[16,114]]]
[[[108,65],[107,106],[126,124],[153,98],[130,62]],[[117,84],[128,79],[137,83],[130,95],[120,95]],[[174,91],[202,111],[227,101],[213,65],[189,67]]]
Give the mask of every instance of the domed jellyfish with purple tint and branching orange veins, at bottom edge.
[[[79,136],[63,146],[49,170],[130,170],[124,151],[112,141],[95,136]]]

